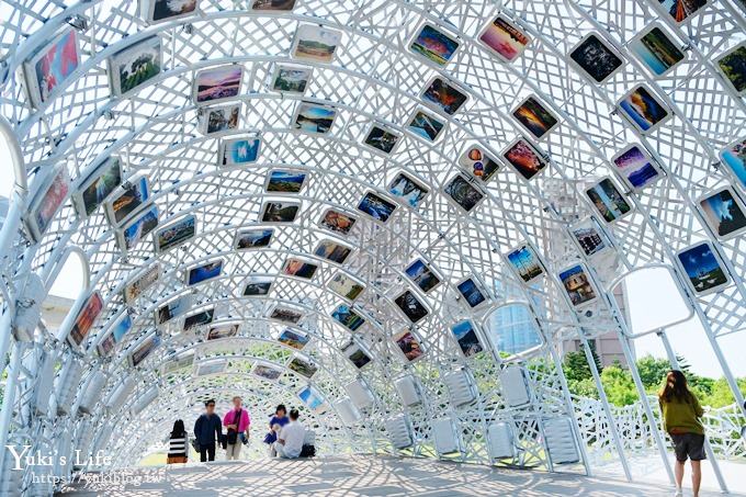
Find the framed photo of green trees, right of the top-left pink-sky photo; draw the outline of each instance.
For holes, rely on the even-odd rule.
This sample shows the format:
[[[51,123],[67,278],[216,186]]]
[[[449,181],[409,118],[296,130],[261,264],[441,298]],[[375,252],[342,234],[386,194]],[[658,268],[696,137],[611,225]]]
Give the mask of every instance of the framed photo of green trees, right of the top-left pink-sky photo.
[[[114,97],[125,97],[160,75],[163,68],[159,36],[137,42],[109,57],[109,86]]]

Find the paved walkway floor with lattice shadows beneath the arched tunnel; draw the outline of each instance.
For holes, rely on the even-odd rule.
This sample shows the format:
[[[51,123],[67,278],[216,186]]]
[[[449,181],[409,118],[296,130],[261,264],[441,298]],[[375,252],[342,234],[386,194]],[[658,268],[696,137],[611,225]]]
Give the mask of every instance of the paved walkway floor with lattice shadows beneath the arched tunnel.
[[[167,496],[671,496],[668,486],[628,484],[576,475],[497,470],[423,459],[374,456],[316,458],[301,461],[211,463],[135,468],[79,483],[64,495],[89,497]],[[122,483],[114,478],[139,478]],[[132,481],[131,481],[132,482]],[[691,493],[685,493],[690,496]],[[703,493],[702,497],[722,494]]]

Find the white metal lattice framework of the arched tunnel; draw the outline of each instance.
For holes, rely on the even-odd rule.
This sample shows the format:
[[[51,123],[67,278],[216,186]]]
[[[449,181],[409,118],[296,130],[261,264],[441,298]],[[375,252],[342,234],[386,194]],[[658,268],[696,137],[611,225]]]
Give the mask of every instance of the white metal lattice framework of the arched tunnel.
[[[192,2],[152,3],[156,9],[167,3],[169,9],[187,9]],[[294,8],[257,10],[253,3],[294,3]],[[720,151],[743,140],[746,106],[741,89],[716,63],[746,39],[743,3],[713,0],[691,13],[698,2],[682,1],[679,7],[690,14],[682,23],[651,0],[201,0],[196,12],[155,23],[145,20],[151,15],[150,4],[0,2],[0,109],[12,154],[3,167],[14,168],[16,181],[0,234],[0,358],[8,372],[0,445],[30,443],[34,450],[72,453],[79,449],[86,454],[105,449],[115,455],[115,464],[127,466],[161,447],[173,419],[183,418],[190,426],[206,397],[218,398],[222,407],[239,393],[261,419],[276,403],[302,405],[297,393],[313,384],[326,410],[305,408],[304,416],[317,431],[321,452],[402,452],[553,471],[563,461],[558,450],[553,453],[553,430],[557,420],[570,418],[572,431],[566,434],[577,442],[577,464],[567,459],[572,471],[590,473],[597,466],[618,464],[631,478],[633,459],[657,451],[659,464],[670,475],[663,456],[666,440],[654,413],[657,407],[645,397],[634,365],[640,410],[619,411],[604,395],[598,402],[570,397],[555,347],[580,340],[589,352],[589,339],[614,332],[633,363],[634,337],[612,290],[632,271],[660,266],[670,269],[701,319],[736,400],[730,419],[743,423],[744,398],[720,341],[746,332],[746,247],[737,229],[734,236],[719,236],[698,205],[700,197],[724,185],[730,185],[736,201],[744,195],[745,184],[725,167]],[[481,39],[483,29],[498,14],[530,38],[512,61]],[[653,22],[683,54],[683,60],[663,76],[651,72],[633,52],[633,39]],[[298,26],[306,25],[341,33],[331,60],[318,54],[315,60],[298,57],[296,46],[303,39]],[[443,46],[444,38],[439,37],[443,33],[459,45],[447,64],[433,63],[436,56],[425,57],[421,47],[411,48],[423,25],[441,33],[429,39],[432,53],[450,54],[448,41]],[[55,81],[39,79],[38,86],[52,90],[48,94],[44,88],[30,88],[38,76],[33,64],[37,55],[56,36],[68,33],[77,36],[79,64],[64,79],[64,68],[50,71]],[[590,33],[623,61],[602,83],[567,56]],[[149,79],[145,75],[145,82],[133,91],[115,94],[110,87],[116,69],[110,59],[147,39],[160,42],[161,70]],[[309,52],[318,49],[308,46]],[[207,124],[214,105],[195,103],[194,80],[201,70],[225,65],[242,68],[238,94],[219,103],[240,103],[238,126],[205,134],[201,123]],[[313,71],[305,94],[272,88],[282,65]],[[422,95],[433,77],[450,81],[467,97],[453,115]],[[668,116],[644,133],[618,105],[641,83],[657,97]],[[513,116],[530,95],[543,102],[558,123],[541,139],[534,139]],[[304,102],[336,112],[328,133],[294,129]],[[432,142],[408,126],[418,110],[443,127]],[[372,125],[399,136],[393,151],[363,143]],[[218,163],[221,144],[247,134],[261,139],[257,160]],[[538,147],[534,159],[549,163],[530,180],[502,155],[520,136]],[[641,144],[660,178],[644,188],[621,187],[625,183],[617,181],[630,213],[606,223],[585,190],[603,177],[614,177],[617,168],[610,159],[630,143]],[[461,171],[459,158],[473,145],[491,155],[500,169],[488,183],[478,176],[464,177],[462,191],[471,188],[483,197],[466,212],[449,195],[449,184]],[[159,226],[194,215],[194,237],[159,251],[148,235],[125,252],[124,241],[117,239],[122,229],[113,215],[105,214],[104,205],[81,215],[76,193],[111,157],[122,165],[125,187],[136,184],[137,174],[143,174],[151,193],[147,205],[121,225],[155,205]],[[299,192],[267,191],[268,174],[278,169],[306,174]],[[38,229],[33,210],[59,171],[67,172],[69,189],[61,193],[64,203],[52,212],[48,226]],[[428,191],[419,203],[389,191],[399,173]],[[396,205],[386,222],[358,208],[369,192]],[[268,201],[299,205],[297,216],[292,223],[262,222]],[[357,219],[348,234],[319,224],[328,208]],[[608,238],[610,250],[602,258],[586,257],[573,242],[572,227],[588,216],[598,219],[598,230]],[[252,227],[273,228],[270,245],[237,249],[236,233]],[[343,263],[318,255],[316,248],[326,239],[352,250]],[[677,262],[680,250],[702,241],[716,251],[728,279],[711,293],[690,286]],[[521,245],[538,255],[543,271],[529,284],[506,258]],[[67,339],[77,317],[75,308],[59,332],[48,331],[38,315],[38,305],[74,252],[84,261],[87,278],[78,304],[95,291],[103,302],[81,347]],[[310,280],[283,272],[286,259],[293,257],[318,266]],[[187,284],[191,268],[217,258],[223,261],[218,278]],[[425,292],[412,282],[405,269],[416,259],[425,261],[442,283]],[[561,281],[561,273],[578,263],[597,295],[581,308],[565,291],[573,283]],[[155,267],[158,280],[125,301],[126,285]],[[330,289],[338,274],[365,286],[353,303]],[[269,294],[244,296],[246,282],[257,276],[272,279]],[[486,305],[471,309],[464,304],[456,285],[466,278],[482,286]],[[427,316],[417,323],[396,304],[405,290],[427,307]],[[213,323],[183,330],[180,315],[157,324],[157,310],[174,295],[191,296],[189,316],[214,309]],[[340,304],[351,306],[364,324],[354,330],[342,326],[332,317]],[[494,309],[515,304],[535,317],[541,344],[518,354],[501,353],[484,328]],[[278,305],[302,313],[301,320],[290,325],[310,337],[302,351],[278,341],[289,327],[271,317]],[[132,329],[109,357],[102,357],[97,346],[123,313],[131,316]],[[473,355],[462,353],[451,331],[464,319],[474,323],[484,349]],[[236,336],[207,341],[210,328],[225,323],[238,325]],[[407,329],[425,350],[411,363],[394,340]],[[666,330],[653,331],[670,350]],[[133,366],[132,352],[154,332],[160,346]],[[358,369],[348,359],[350,340],[370,354],[370,364]],[[184,359],[191,353],[193,360]],[[307,379],[289,369],[295,357],[310,361],[317,372]],[[183,362],[176,364],[178,360]],[[223,360],[226,364],[219,363]],[[213,374],[197,376],[201,365],[216,361],[219,368]],[[252,373],[257,363],[283,374],[274,381],[261,379]],[[515,366],[525,375],[527,403],[513,403],[507,393],[511,386],[504,377]],[[449,374],[461,371],[472,379],[476,395],[455,405],[454,392],[447,385]],[[395,381],[407,374],[419,385],[418,405],[407,406],[395,387]],[[344,386],[355,380],[372,393],[373,402],[360,407],[357,420],[342,419],[340,402],[349,395]],[[103,382],[97,385],[102,388],[101,400],[86,405],[86,395],[97,382]],[[598,379],[597,383],[600,387]],[[126,395],[115,395],[117,388]],[[397,449],[386,422],[402,414],[412,443]],[[438,421],[443,419],[456,427],[459,450],[438,454],[433,427],[442,426]],[[495,454],[488,443],[490,429],[501,422],[513,434],[512,456]],[[737,441],[728,443],[723,442],[726,455],[743,456],[743,450],[733,445]],[[3,471],[8,470],[5,460]],[[32,471],[23,473],[18,488],[32,485]],[[49,471],[67,475],[72,465]],[[721,481],[723,488],[726,485]]]

